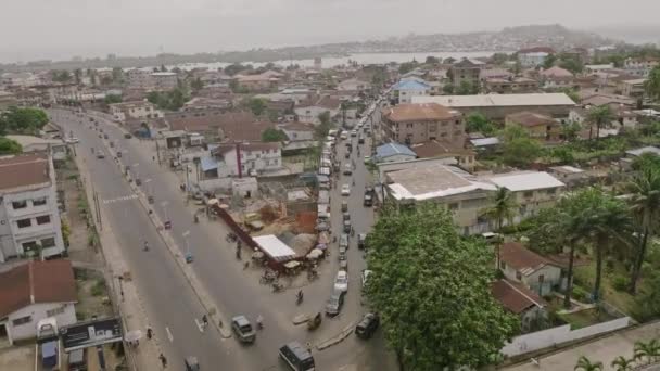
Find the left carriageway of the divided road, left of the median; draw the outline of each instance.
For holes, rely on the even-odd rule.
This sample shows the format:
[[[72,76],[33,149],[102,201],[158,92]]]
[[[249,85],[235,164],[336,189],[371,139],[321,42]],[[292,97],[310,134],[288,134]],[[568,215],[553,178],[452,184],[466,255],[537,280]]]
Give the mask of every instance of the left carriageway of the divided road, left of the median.
[[[77,145],[77,154],[90,169],[99,199],[107,202],[102,207],[110,220],[103,222],[116,231],[117,243],[144,297],[143,305],[169,363],[178,366],[185,357],[196,356],[202,364],[227,364],[238,369],[241,363],[228,355],[229,347],[218,351],[218,344],[223,342],[219,334],[201,332],[194,322],[195,318],[202,317],[203,308],[137,200],[126,197],[131,195],[131,190],[117,166],[107,157],[98,159],[91,154],[90,146],[102,148],[97,132],[71,115],[54,115],[53,118],[85,143]],[[149,242],[149,252],[142,251],[142,241]],[[172,341],[168,332],[173,335]]]

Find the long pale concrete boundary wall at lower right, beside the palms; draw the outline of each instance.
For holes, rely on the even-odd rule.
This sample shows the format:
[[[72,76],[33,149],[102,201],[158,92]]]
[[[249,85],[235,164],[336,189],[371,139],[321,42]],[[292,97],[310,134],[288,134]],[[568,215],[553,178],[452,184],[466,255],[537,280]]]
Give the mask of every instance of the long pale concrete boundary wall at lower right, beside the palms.
[[[623,317],[608,322],[597,323],[586,328],[571,330],[570,324],[557,328],[532,332],[513,337],[513,341],[506,344],[499,351],[505,356],[518,356],[530,351],[551,347],[561,343],[582,340],[606,332],[626,328],[631,318]]]

